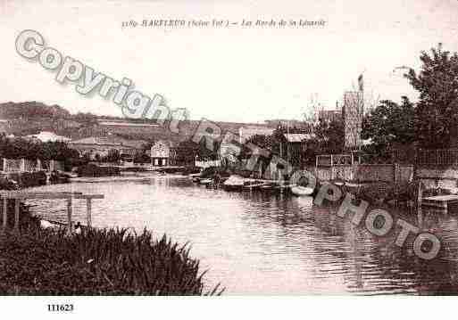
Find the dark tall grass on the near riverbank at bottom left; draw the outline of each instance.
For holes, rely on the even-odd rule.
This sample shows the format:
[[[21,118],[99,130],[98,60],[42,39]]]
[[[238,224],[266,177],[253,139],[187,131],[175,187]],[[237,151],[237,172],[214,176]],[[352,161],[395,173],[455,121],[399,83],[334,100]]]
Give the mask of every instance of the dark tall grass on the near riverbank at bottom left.
[[[0,294],[213,295],[187,245],[128,229],[28,228],[0,236]]]

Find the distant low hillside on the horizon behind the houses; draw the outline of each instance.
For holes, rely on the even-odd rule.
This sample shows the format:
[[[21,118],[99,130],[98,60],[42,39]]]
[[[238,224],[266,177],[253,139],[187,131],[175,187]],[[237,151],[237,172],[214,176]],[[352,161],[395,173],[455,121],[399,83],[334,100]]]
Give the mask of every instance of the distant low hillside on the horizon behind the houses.
[[[199,126],[198,120],[182,121],[180,134],[174,134],[148,119],[123,119],[90,113],[71,114],[58,105],[44,103],[0,103],[0,131],[16,136],[52,131],[57,135],[79,139],[87,136],[121,135],[125,138],[174,142],[189,139]],[[223,131],[238,133],[239,127],[262,126],[254,123],[216,122]]]

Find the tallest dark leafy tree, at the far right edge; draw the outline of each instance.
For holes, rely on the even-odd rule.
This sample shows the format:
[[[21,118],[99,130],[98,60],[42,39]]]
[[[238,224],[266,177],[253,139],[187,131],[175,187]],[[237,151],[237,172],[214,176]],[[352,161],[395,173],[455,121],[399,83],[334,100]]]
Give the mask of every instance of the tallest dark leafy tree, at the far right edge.
[[[456,140],[458,124],[458,55],[442,49],[421,52],[422,65],[417,74],[404,75],[420,92],[414,126],[421,146],[448,148]]]

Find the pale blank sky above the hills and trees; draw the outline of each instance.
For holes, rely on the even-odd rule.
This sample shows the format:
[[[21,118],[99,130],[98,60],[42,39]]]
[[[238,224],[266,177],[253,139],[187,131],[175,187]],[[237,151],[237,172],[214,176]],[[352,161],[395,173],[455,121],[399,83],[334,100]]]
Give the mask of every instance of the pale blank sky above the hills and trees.
[[[121,28],[123,21],[237,21],[231,28]],[[242,20],[326,21],[322,28],[243,28]],[[311,104],[332,109],[363,74],[366,103],[417,98],[396,67],[420,67],[441,42],[458,51],[458,1],[4,1],[0,0],[0,102],[39,101],[72,113],[121,116],[111,99],[61,85],[15,51],[37,30],[63,56],[132,79],[192,119],[303,119]]]

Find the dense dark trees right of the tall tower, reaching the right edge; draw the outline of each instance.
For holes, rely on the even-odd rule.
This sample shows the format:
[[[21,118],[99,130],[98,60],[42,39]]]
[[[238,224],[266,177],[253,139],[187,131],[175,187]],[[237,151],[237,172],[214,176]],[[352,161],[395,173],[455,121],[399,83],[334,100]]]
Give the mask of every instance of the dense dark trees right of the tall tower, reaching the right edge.
[[[422,149],[455,148],[458,141],[458,54],[442,44],[423,51],[421,69],[404,74],[419,92],[418,102],[385,100],[363,119],[362,138],[371,139],[365,152],[389,159],[396,146]]]

